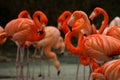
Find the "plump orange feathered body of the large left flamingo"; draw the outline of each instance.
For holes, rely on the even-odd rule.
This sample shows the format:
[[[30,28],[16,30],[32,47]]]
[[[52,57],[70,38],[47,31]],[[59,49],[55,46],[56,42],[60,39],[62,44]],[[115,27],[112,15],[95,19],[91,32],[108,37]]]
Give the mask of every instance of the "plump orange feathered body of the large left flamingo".
[[[33,20],[27,18],[18,18],[10,21],[5,27],[5,32],[7,32],[8,36],[12,37],[14,41],[18,42],[39,41],[45,35],[41,36],[38,34],[37,27]]]

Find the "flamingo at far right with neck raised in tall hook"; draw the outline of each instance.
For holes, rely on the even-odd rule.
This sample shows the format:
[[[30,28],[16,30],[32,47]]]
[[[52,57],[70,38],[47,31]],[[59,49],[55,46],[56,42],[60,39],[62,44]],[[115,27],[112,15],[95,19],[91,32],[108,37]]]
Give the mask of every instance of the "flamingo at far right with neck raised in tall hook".
[[[120,25],[118,24],[118,22],[120,22],[120,19],[117,17],[117,20],[115,18],[115,20],[113,20],[109,27],[108,26],[108,20],[109,20],[109,16],[107,14],[107,12],[102,9],[102,8],[99,8],[99,7],[96,7],[93,12],[91,13],[90,15],[90,19],[93,20],[96,16],[99,16],[100,14],[102,14],[104,16],[104,21],[102,22],[102,25],[101,25],[101,28],[102,30],[100,30],[99,33],[102,33],[103,30],[103,34],[106,34],[108,36],[112,36],[114,38],[117,38],[120,40],[120,36],[119,36],[119,33],[120,33]],[[116,23],[116,24],[115,24]],[[106,28],[105,28],[106,27]]]

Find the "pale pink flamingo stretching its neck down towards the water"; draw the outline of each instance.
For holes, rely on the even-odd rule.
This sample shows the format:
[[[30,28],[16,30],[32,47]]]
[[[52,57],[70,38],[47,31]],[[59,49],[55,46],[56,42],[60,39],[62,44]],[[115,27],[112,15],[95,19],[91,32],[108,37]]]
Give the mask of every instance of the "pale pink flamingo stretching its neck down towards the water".
[[[51,51],[51,48],[59,46],[57,42],[59,42],[60,32],[54,26],[46,26],[45,27],[45,38],[40,41],[32,42],[31,44],[40,49],[44,48],[45,55],[49,58],[52,58],[54,61],[54,66],[58,70],[58,75],[60,74],[60,63],[57,59],[57,55],[55,52]]]

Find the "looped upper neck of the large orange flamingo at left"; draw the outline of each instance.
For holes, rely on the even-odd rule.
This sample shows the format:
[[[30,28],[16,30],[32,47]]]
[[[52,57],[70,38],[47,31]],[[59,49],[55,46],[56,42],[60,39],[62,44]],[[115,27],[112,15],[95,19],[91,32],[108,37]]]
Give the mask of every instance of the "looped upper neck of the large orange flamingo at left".
[[[38,28],[40,28],[40,30],[43,30],[42,24],[47,24],[47,22],[48,22],[46,15],[41,11],[36,11],[33,14],[33,20],[34,20],[36,26]]]

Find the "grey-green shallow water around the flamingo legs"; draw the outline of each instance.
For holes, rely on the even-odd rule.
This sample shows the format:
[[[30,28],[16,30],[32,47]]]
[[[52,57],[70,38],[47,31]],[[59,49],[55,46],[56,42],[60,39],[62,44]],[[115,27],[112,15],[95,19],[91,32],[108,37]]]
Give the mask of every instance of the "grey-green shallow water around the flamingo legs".
[[[29,80],[32,80],[31,77],[33,75],[34,75],[34,80],[76,80],[77,59],[76,58],[72,59],[72,62],[70,62],[69,59],[71,58],[68,58],[68,61],[67,59],[64,60],[60,58],[61,73],[59,76],[57,76],[57,71],[53,66],[52,60],[42,60],[41,66],[40,66],[40,60],[30,60]],[[48,65],[50,66],[50,76],[48,76]],[[84,67],[80,65],[78,80],[83,80],[83,69]],[[44,75],[44,79],[43,77],[38,77],[40,70],[41,70],[41,74]],[[26,78],[26,72],[27,72],[27,67],[26,67],[26,63],[24,63],[25,78]],[[88,74],[89,74],[89,68],[86,67],[85,70],[86,80]],[[15,77],[16,77],[15,61],[0,63],[0,80],[15,80]]]

